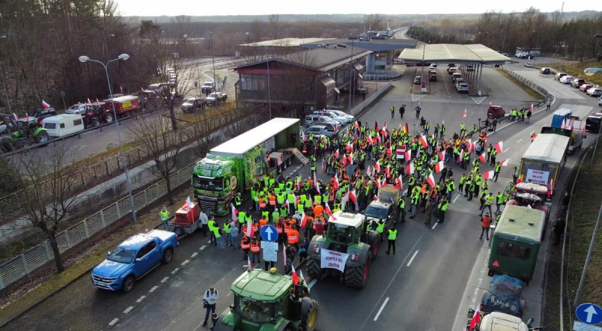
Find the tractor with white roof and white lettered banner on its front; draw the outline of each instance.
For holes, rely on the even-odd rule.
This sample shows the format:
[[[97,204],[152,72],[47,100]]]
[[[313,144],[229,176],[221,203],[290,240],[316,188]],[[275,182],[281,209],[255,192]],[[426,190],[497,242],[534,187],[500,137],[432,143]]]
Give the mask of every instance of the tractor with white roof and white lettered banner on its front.
[[[380,235],[370,229],[365,215],[337,211],[328,220],[326,235],[315,235],[309,243],[309,256],[307,273],[314,279],[324,276],[338,276],[341,282],[353,288],[364,288],[368,280],[370,263],[376,259],[380,249]],[[329,264],[322,267],[321,254],[324,250],[334,251],[334,255],[343,253],[347,255],[342,265]],[[341,255],[344,256],[344,255]]]

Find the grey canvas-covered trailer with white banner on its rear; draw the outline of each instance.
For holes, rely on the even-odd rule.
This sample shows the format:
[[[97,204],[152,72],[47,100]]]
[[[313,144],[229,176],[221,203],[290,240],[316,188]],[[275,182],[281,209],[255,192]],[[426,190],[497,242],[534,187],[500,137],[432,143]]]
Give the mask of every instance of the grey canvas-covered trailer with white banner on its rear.
[[[519,181],[545,185],[553,194],[566,162],[568,143],[569,137],[563,135],[539,134],[521,158]]]

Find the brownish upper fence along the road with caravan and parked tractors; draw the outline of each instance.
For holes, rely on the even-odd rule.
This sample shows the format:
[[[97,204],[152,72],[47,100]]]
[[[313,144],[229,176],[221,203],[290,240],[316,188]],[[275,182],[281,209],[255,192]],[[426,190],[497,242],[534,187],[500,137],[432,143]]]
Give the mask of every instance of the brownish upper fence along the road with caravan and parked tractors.
[[[192,125],[187,126],[187,128],[176,131],[177,136],[173,137],[173,143],[194,140],[206,132],[210,132],[213,129],[219,128],[236,119],[240,119],[241,116],[244,116],[243,109],[234,108],[226,111],[226,113],[212,117],[211,119],[193,123]],[[171,146],[173,146],[173,144]],[[66,174],[62,180],[66,181],[66,187],[70,192],[78,191],[88,187],[101,178],[120,172],[123,168],[123,162],[126,162],[128,166],[132,166],[132,164],[148,158],[153,152],[154,151],[147,149],[144,144],[125,150],[124,158],[122,158],[117,151],[111,155],[103,156],[99,161],[79,166],[79,171]],[[42,197],[50,197],[52,194],[52,184],[52,181],[44,182],[36,187],[36,191],[39,192]],[[16,191],[7,196],[0,197],[0,215],[10,215],[10,212],[21,209],[20,203],[25,200],[25,193],[23,191]]]

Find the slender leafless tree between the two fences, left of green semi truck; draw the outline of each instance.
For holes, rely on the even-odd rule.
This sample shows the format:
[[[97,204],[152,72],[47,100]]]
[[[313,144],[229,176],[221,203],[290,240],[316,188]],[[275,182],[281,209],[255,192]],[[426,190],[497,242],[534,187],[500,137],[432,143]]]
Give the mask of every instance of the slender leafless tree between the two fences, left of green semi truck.
[[[173,205],[170,176],[178,163],[178,155],[184,147],[178,132],[172,130],[170,120],[158,111],[141,116],[131,131],[137,140],[146,147],[149,156],[155,163],[148,169],[154,175],[165,179],[169,204]]]

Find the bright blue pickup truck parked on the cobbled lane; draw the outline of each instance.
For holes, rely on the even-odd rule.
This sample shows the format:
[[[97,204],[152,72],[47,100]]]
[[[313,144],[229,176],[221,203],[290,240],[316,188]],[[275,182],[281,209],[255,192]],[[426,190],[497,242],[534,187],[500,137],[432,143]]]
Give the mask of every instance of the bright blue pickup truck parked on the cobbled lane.
[[[123,241],[108,257],[92,270],[92,283],[102,289],[131,292],[136,280],[159,264],[172,262],[173,250],[178,247],[176,234],[151,230]]]

